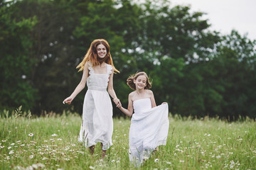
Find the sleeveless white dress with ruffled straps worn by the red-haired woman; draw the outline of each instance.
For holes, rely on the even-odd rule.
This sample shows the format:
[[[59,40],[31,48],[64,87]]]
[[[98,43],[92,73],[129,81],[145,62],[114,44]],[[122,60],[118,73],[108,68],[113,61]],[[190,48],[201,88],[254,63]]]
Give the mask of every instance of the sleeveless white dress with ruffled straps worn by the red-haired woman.
[[[95,74],[89,63],[87,92],[82,108],[82,125],[79,142],[85,142],[85,147],[103,144],[107,150],[112,145],[113,120],[112,103],[107,93],[108,81],[113,67],[107,64],[107,74]]]

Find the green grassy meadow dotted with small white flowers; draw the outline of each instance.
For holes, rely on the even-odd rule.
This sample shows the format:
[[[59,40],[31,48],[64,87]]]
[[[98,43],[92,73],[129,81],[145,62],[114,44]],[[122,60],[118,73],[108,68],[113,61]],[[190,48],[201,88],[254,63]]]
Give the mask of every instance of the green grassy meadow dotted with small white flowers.
[[[135,169],[128,157],[129,118],[114,119],[113,146],[102,160],[100,145],[91,156],[78,142],[78,114],[7,115],[0,118],[0,169]],[[256,169],[255,121],[169,120],[167,145],[137,169]]]

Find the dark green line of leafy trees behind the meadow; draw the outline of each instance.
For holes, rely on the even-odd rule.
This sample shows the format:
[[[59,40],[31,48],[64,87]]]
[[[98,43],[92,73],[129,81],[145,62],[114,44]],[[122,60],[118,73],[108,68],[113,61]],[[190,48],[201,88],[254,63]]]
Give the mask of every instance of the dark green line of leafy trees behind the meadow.
[[[114,90],[127,106],[130,74],[153,79],[156,103],[194,118],[255,118],[255,40],[211,31],[202,12],[170,1],[0,0],[0,107],[82,113],[85,91],[63,106],[90,42],[110,43]],[[123,114],[114,108],[114,116]]]

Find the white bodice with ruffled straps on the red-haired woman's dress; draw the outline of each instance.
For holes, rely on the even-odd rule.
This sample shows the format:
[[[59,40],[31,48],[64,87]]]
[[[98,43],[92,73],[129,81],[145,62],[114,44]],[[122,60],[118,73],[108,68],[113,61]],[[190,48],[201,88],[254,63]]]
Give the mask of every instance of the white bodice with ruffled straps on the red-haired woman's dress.
[[[89,77],[87,78],[87,87],[91,90],[106,91],[112,66],[107,64],[107,74],[95,74],[92,64],[89,63]]]

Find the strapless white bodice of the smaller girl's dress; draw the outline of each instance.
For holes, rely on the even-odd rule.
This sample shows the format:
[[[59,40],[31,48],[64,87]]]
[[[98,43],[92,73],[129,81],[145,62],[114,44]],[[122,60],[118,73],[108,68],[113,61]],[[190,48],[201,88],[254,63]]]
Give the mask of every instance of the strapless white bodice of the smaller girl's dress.
[[[150,98],[142,98],[133,102],[134,113],[144,113],[152,108]]]

